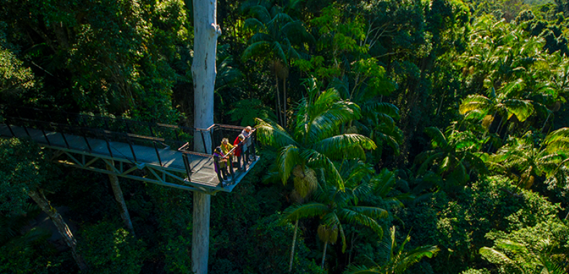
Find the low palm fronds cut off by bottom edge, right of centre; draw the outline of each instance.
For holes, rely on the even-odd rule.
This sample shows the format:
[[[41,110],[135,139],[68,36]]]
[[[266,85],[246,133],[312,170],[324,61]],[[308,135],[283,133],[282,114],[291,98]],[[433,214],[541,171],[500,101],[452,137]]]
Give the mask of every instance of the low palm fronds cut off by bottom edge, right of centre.
[[[401,246],[395,239],[396,229],[391,227],[389,229],[389,236],[383,238],[379,243],[380,249],[380,262],[374,262],[376,266],[350,266],[346,274],[364,274],[364,273],[381,273],[381,274],[398,274],[404,273],[409,266],[419,262],[422,258],[432,258],[437,254],[439,248],[437,246],[422,246],[415,247],[411,251],[405,251],[404,247],[411,240],[409,234],[402,242]]]

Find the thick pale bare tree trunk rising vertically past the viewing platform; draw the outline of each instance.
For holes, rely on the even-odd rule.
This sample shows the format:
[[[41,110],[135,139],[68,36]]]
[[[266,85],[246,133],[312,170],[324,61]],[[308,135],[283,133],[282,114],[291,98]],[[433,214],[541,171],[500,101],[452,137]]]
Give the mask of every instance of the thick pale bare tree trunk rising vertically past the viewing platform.
[[[217,25],[217,0],[194,0],[194,42],[193,42],[193,90],[194,127],[206,129],[213,125],[213,90],[215,88],[215,55],[217,37],[221,28]],[[200,134],[201,135],[201,134]],[[210,134],[194,136],[194,150],[202,153],[211,147]],[[208,273],[210,195],[201,192],[193,194],[193,236],[192,271]]]

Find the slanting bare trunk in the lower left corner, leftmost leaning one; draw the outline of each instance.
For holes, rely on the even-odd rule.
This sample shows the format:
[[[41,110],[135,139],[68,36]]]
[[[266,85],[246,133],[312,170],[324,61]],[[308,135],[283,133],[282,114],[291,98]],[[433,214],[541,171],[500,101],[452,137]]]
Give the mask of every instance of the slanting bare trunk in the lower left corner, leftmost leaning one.
[[[29,195],[29,197],[32,197],[32,199],[38,204],[43,212],[49,216],[49,219],[51,219],[53,225],[56,225],[56,228],[58,229],[59,234],[61,234],[63,237],[66,245],[71,248],[71,255],[73,256],[73,259],[75,259],[75,262],[77,262],[77,266],[79,266],[79,269],[81,269],[81,271],[86,271],[88,269],[87,264],[85,264],[82,256],[77,252],[77,240],[75,240],[75,236],[73,236],[71,230],[69,230],[69,227],[61,215],[58,213],[56,208],[51,207],[49,201],[45,195],[43,195],[43,192],[41,190],[30,190],[27,195]]]

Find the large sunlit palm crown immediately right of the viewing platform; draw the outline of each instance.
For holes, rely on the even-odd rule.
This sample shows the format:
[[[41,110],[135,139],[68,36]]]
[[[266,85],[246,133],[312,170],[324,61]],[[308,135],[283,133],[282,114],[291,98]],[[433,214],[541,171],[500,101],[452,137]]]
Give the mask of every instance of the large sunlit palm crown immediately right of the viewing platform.
[[[320,92],[315,79],[309,80],[307,93],[296,109],[293,132],[256,119],[257,138],[278,149],[276,164],[283,184],[287,184],[295,166],[300,166],[297,171],[301,176],[308,166],[324,169],[327,180],[343,189],[343,179],[332,160],[365,159],[364,149],[375,149],[376,145],[360,134],[340,134],[343,123],[360,117],[358,105],[342,100],[337,90]]]

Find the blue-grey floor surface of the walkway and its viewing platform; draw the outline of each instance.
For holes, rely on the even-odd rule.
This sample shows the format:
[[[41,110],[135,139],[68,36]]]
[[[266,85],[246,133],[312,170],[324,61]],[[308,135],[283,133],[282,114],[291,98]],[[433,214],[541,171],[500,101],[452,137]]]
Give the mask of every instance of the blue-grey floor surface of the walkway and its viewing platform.
[[[184,161],[182,160],[183,153],[169,147],[155,149],[154,147],[132,145],[131,150],[131,146],[128,143],[109,141],[109,152],[109,148],[107,147],[107,142],[105,140],[84,138],[82,136],[75,136],[71,134],[65,134],[65,138],[63,138],[62,134],[58,132],[45,132],[44,135],[44,132],[39,129],[23,128],[14,125],[11,125],[10,128],[12,129],[12,132],[14,132],[15,137],[29,137],[40,145],[51,149],[66,149],[85,155],[103,155],[111,159],[123,161],[128,160],[128,162],[132,162],[132,164],[144,163],[160,167],[161,169],[165,169],[170,172],[179,174],[186,173]],[[4,124],[0,125],[0,136],[3,138],[13,137],[12,132],[10,132],[10,128]],[[132,151],[135,151],[134,155]],[[158,159],[157,152],[158,155],[160,155],[160,160]],[[215,173],[213,158],[196,154],[188,154],[188,160],[189,166],[191,167],[191,182],[189,182],[189,184],[207,186],[208,188],[215,188],[226,192],[230,192],[234,186],[237,185],[232,183],[230,186],[221,187],[219,179],[217,179],[217,174]],[[247,171],[256,164],[257,160],[258,156],[255,160],[250,162],[250,164],[246,165],[245,171],[234,169],[235,182],[239,183]]]

